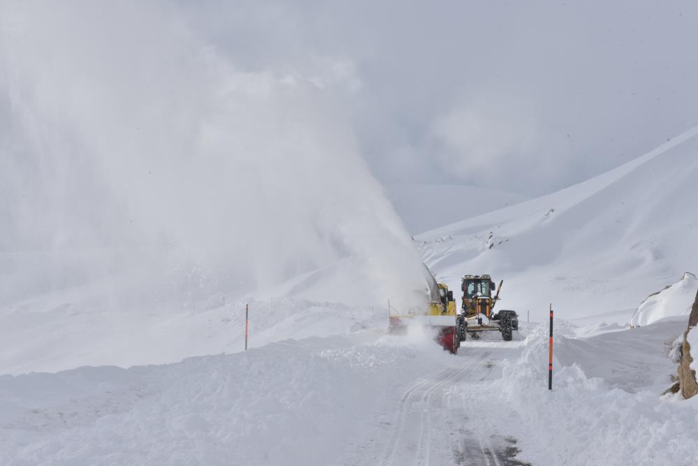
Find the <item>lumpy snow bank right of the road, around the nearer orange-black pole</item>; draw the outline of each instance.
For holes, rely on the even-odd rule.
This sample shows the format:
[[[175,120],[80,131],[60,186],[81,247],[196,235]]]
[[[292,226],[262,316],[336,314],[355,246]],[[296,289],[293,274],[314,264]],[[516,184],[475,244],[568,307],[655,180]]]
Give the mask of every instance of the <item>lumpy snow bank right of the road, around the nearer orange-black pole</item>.
[[[510,426],[519,439],[521,460],[536,465],[698,461],[698,412],[688,405],[662,400],[650,391],[609,389],[603,379],[587,377],[577,364],[561,367],[557,358],[553,391],[548,391],[547,330],[533,330],[521,357],[505,361],[503,378],[493,382],[501,405],[521,416],[522,422]],[[560,343],[572,333],[564,324],[558,326],[556,348],[564,347]],[[506,418],[506,411],[502,416]]]

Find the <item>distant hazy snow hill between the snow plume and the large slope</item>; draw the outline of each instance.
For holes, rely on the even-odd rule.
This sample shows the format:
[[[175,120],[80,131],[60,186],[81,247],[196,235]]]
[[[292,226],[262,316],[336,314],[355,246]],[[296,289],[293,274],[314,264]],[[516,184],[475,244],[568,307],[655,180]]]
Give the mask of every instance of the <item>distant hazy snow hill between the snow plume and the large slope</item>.
[[[388,198],[413,235],[525,201],[518,194],[449,184],[388,184]]]

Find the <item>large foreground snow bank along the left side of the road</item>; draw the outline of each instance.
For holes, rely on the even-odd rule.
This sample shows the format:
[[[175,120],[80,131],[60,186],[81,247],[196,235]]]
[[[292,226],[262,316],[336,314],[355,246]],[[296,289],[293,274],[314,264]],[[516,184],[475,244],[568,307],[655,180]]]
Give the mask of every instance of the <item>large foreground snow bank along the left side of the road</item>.
[[[382,340],[0,377],[0,464],[335,464],[389,391],[452,360]]]

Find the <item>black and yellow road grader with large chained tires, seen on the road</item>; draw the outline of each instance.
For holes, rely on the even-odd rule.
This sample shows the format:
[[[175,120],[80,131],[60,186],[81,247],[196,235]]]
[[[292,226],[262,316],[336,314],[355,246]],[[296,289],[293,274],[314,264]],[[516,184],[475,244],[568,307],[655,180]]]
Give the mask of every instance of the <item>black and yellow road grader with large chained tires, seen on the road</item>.
[[[495,282],[489,275],[465,275],[460,283],[463,291],[463,304],[458,314],[458,337],[464,342],[466,335],[473,340],[479,340],[481,332],[496,331],[502,333],[502,340],[509,342],[513,336],[514,324],[511,313],[494,312],[497,301],[500,300],[502,283],[497,287],[497,293],[492,296]],[[501,315],[500,315],[501,314]]]

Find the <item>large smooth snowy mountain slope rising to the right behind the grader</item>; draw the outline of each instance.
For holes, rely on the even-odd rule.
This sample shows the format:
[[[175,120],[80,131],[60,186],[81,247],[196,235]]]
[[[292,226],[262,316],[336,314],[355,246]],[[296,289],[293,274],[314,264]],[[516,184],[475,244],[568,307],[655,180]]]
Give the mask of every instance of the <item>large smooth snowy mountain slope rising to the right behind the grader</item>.
[[[416,237],[458,289],[465,273],[504,279],[502,307],[543,319],[611,314],[630,321],[648,293],[698,263],[698,128],[554,194]]]

